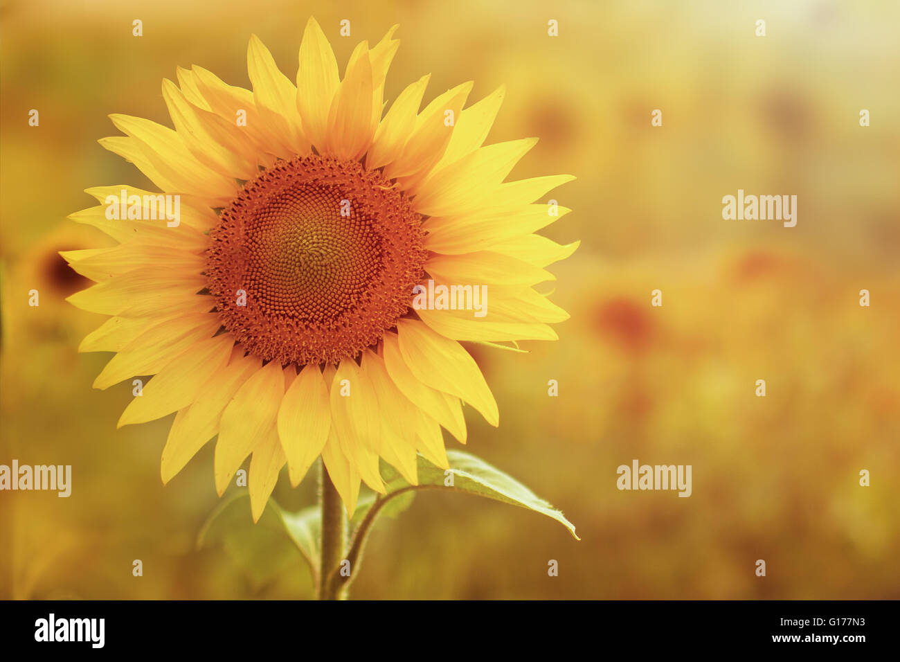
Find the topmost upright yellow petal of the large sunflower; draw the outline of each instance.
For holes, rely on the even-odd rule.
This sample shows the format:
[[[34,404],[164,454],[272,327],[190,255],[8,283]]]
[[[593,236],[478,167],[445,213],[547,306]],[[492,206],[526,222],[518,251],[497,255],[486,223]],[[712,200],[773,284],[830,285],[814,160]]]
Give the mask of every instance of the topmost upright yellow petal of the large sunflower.
[[[339,83],[338,60],[331,44],[319,23],[310,18],[300,45],[297,110],[300,111],[306,137],[317,147],[325,144],[331,101],[338,92]]]

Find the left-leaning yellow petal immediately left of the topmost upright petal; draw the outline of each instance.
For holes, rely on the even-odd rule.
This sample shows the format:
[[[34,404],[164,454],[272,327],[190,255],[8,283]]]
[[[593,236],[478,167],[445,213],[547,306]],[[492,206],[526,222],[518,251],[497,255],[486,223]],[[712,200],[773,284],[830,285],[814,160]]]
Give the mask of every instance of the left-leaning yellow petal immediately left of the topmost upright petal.
[[[272,53],[255,34],[251,35],[247,47],[247,72],[260,116],[282,141],[284,149],[278,156],[290,159],[308,153],[310,143],[303,135],[302,119],[297,110],[297,88],[278,69]]]

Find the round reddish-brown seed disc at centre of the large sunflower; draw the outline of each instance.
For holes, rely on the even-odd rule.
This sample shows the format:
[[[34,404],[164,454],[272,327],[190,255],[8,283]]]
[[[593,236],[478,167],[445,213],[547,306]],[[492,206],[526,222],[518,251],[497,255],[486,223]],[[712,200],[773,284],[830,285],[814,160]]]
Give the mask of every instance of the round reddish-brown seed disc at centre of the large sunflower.
[[[337,363],[406,313],[421,217],[380,172],[316,155],[269,168],[221,213],[207,250],[222,325],[283,365]]]

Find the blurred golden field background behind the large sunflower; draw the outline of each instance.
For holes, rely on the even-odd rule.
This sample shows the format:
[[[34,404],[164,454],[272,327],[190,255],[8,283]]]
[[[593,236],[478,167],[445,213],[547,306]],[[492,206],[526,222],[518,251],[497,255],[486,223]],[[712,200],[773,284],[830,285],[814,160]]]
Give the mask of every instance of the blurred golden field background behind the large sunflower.
[[[900,597],[900,5],[4,0],[0,464],[71,464],[73,487],[0,493],[0,598],[311,596],[261,527],[196,549],[219,503],[212,445],[164,487],[170,418],[115,430],[131,386],[91,388],[109,355],[76,347],[103,317],[63,301],[85,283],[57,255],[109,241],[66,220],[94,204],[85,188],[152,188],[97,144],[117,134],[107,114],[170,125],[176,66],[249,87],[251,32],[293,78],[311,14],[342,70],[401,24],[386,99],[428,72],[427,99],[505,83],[489,141],[541,138],[514,177],[578,177],[551,194],[575,212],[545,231],[581,240],[548,284],[572,319],[527,355],[473,349],[500,428],[467,412],[467,450],[581,542],[533,512],[420,494],[375,531],[355,597]],[[724,221],[738,188],[797,195],[797,227]],[[618,491],[633,458],[692,465],[693,494]],[[311,503],[313,482],[283,474],[275,499]]]

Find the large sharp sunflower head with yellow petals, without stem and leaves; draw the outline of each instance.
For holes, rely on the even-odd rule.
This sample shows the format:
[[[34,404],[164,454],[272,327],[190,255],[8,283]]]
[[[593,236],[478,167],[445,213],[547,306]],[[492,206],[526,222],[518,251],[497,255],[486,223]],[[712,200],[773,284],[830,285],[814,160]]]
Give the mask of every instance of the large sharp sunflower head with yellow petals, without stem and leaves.
[[[178,68],[175,129],[113,114],[125,135],[100,141],[163,193],[90,188],[100,204],[71,216],[118,242],[62,253],[95,283],[68,301],[111,316],[79,347],[115,352],[94,387],[152,376],[119,426],[175,413],[164,483],[217,435],[219,494],[251,456],[254,520],[285,464],[296,486],[321,457],[348,513],[360,481],[383,493],[380,459],[413,485],[417,454],[446,468],[441,428],[465,443],[464,403],[499,424],[460,341],[555,340],[568,317],[534,286],[577,242],[533,232],[569,211],[536,200],[573,177],[504,181],[536,140],[483,146],[503,87],[420,111],[426,76],[383,114],[395,30],[343,79],[313,19],[296,86],[256,36],[252,92]],[[413,305],[441,286],[482,287],[486,314]]]

